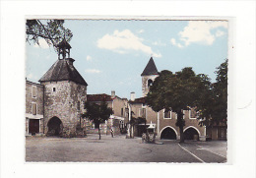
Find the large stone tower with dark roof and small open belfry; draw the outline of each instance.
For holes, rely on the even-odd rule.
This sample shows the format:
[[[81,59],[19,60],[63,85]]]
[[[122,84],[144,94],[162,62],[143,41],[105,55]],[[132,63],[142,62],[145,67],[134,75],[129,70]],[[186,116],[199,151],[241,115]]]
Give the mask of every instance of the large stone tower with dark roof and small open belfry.
[[[81,114],[87,99],[87,83],[70,58],[70,44],[58,45],[58,60],[39,80],[44,86],[44,133],[74,137],[81,131]]]

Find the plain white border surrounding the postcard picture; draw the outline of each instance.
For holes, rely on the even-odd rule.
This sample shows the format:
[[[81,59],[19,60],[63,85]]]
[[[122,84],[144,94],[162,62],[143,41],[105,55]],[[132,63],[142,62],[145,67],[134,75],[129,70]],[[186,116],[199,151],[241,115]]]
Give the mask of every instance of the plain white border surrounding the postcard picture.
[[[228,71],[228,161],[220,164],[25,163],[25,18],[90,17],[235,18]],[[63,16],[65,15],[65,16]],[[81,16],[85,15],[85,16]],[[97,15],[97,16],[96,16]],[[47,17],[45,16],[47,19]],[[73,17],[72,17],[73,19]],[[251,38],[249,38],[251,37]],[[230,46],[229,46],[230,47]],[[254,177],[254,1],[1,1],[1,177]],[[244,85],[243,81],[249,84]],[[240,84],[240,82],[242,84]],[[11,95],[12,93],[12,95]],[[15,94],[14,94],[15,93]],[[24,97],[23,97],[24,96]],[[231,102],[230,102],[231,101]],[[16,112],[13,113],[14,103]],[[246,120],[246,121],[245,121]],[[246,124],[250,123],[250,125]],[[243,129],[238,129],[243,128]],[[231,135],[231,136],[229,136]],[[230,156],[230,157],[229,157]],[[182,175],[181,175],[182,174]]]

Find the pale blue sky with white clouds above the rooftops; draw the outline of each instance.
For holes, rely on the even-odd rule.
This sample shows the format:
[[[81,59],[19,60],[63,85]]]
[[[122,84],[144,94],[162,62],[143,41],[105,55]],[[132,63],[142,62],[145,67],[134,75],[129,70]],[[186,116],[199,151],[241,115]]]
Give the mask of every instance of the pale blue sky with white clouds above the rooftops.
[[[224,21],[65,20],[74,66],[88,83],[88,94],[142,96],[141,74],[153,57],[160,71],[192,67],[214,83],[227,58],[228,23]],[[28,43],[26,77],[38,80],[58,60],[44,39]]]

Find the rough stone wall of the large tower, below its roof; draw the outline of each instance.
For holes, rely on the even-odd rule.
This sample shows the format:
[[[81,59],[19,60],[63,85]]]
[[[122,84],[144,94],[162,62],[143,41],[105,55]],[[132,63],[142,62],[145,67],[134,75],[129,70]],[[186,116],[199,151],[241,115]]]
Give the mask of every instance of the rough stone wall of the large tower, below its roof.
[[[48,132],[47,124],[53,117],[61,120],[63,137],[75,137],[80,126],[81,114],[84,112],[87,87],[71,81],[45,82],[44,91],[44,132]]]

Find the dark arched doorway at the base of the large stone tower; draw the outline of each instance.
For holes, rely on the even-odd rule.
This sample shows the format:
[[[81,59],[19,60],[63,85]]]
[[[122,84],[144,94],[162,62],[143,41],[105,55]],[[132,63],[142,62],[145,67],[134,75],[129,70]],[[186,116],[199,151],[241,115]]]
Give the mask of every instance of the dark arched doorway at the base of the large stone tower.
[[[48,127],[48,136],[61,136],[63,124],[58,117],[52,117],[47,124]]]

